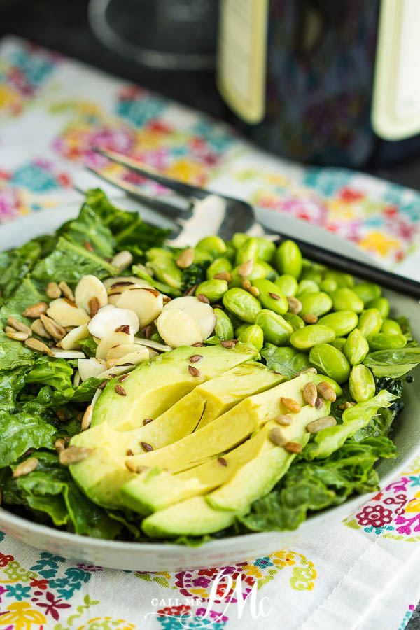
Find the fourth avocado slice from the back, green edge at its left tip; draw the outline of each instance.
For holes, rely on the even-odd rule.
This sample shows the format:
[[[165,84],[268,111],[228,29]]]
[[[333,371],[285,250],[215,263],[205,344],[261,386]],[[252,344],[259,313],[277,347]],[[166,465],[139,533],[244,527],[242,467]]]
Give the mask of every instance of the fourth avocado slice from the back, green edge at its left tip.
[[[307,423],[328,415],[329,412],[330,403],[326,401],[321,409],[309,407],[309,405],[303,407],[300,414],[288,414],[293,420],[293,424],[283,427],[282,433],[288,441],[293,441],[304,434]],[[270,457],[267,451],[274,449],[275,444],[269,440],[268,433],[274,426],[278,426],[275,421],[268,422],[244,444],[240,444],[239,447],[224,454],[222,462],[218,458],[214,458],[176,475],[156,468],[141,472],[140,475],[121,487],[120,496],[123,505],[130,507],[134,512],[150,514],[173,503],[178,503],[191,496],[206,494],[218,486],[222,486],[232,477],[235,477],[244,465],[255,461],[260,454],[263,462],[265,462],[265,455]],[[264,468],[265,465],[262,466],[261,470]],[[258,467],[255,469],[260,470]],[[271,472],[274,470],[275,466],[272,465]],[[241,478],[241,473],[239,477]],[[259,479],[260,475],[258,474],[257,477]],[[268,477],[269,473],[263,475],[263,484],[268,484]],[[238,508],[238,510],[240,509]]]

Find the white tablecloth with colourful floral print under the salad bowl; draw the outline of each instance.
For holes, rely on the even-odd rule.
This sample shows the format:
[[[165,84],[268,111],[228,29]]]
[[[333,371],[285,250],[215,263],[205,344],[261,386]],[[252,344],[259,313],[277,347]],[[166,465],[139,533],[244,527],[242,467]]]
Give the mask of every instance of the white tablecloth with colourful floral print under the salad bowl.
[[[414,190],[272,158],[200,113],[24,41],[3,40],[0,223],[78,202],[73,184],[95,183],[80,165],[133,179],[92,153],[98,145],[316,223],[385,265],[419,273]],[[134,181],[160,192],[156,184]],[[107,570],[0,533],[0,630],[234,630],[267,623],[399,630],[420,596],[419,541],[420,456],[321,537],[223,568]],[[238,598],[248,594],[254,604],[250,596],[242,606]]]

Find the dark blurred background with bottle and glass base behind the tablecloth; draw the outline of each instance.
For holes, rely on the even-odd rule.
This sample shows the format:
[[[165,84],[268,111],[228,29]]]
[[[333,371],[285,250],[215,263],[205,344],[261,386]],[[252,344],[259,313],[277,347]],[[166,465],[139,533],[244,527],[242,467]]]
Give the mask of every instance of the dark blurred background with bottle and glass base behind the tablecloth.
[[[419,67],[409,23],[420,3],[396,4],[405,14],[388,15],[403,37],[381,36],[380,50],[395,103],[379,85],[376,129],[379,29],[390,28],[379,0],[0,0],[0,36],[22,36],[206,111],[283,157],[418,189],[420,95],[409,91],[407,71],[404,85],[389,83],[386,59],[396,59],[398,77]]]

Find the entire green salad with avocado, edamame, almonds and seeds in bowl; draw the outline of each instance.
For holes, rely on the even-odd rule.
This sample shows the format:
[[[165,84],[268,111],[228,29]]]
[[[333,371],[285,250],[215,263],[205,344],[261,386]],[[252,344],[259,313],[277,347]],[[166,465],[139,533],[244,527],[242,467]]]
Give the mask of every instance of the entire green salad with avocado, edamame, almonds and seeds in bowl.
[[[0,253],[1,506],[97,538],[295,529],[374,491],[420,348],[381,288],[90,190]]]

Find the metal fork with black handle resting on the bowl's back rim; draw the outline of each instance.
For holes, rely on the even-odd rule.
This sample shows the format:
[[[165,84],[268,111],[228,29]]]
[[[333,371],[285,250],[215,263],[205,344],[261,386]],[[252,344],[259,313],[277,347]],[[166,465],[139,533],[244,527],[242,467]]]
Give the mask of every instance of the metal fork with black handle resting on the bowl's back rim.
[[[263,236],[279,242],[292,239],[299,246],[305,258],[319,262],[321,265],[334,267],[338,271],[350,272],[362,280],[376,282],[383,287],[420,300],[420,283],[415,280],[361,262],[356,258],[349,258],[337,251],[309,243],[309,241],[290,237],[283,232],[274,233],[272,230],[264,229],[257,220],[251,204],[244,200],[212,193],[205,188],[169,178],[157,169],[153,169],[143,162],[127,158],[127,156],[115,151],[95,148],[94,152],[108,158],[111,162],[122,165],[137,175],[160,183],[176,193],[176,197],[153,197],[141,192],[137,186],[130,182],[121,181],[113,175],[104,175],[97,169],[87,167],[87,170],[94,175],[123,190],[127,197],[150,207],[158,215],[171,219],[174,229],[169,235],[169,241],[172,246],[194,244],[200,238],[209,235],[218,235],[223,240],[229,240],[235,232]]]

